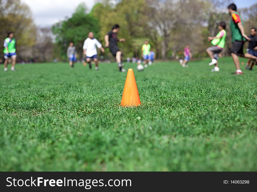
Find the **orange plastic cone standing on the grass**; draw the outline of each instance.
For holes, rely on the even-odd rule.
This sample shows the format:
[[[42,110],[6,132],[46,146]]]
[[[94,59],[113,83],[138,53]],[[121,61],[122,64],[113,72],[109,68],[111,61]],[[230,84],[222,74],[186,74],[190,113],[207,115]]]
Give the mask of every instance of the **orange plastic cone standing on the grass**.
[[[138,106],[140,104],[141,102],[138,94],[138,87],[136,86],[136,79],[133,73],[133,69],[129,69],[121,98],[121,106],[132,107]]]

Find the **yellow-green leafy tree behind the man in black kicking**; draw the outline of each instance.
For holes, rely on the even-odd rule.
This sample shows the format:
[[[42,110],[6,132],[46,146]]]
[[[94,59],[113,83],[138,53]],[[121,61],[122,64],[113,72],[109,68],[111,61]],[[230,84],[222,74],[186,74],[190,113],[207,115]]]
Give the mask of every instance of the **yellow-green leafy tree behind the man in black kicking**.
[[[147,11],[144,0],[103,0],[93,7],[91,14],[99,20],[100,40],[114,24],[119,24],[118,36],[126,39],[125,43],[119,45],[122,52],[127,56],[140,56],[144,40],[150,39]]]

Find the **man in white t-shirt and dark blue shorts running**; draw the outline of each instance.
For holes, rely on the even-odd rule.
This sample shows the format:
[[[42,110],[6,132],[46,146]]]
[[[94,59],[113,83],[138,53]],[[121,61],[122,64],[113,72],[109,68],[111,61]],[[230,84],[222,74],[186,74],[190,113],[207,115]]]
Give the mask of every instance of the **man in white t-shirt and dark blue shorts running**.
[[[98,70],[98,58],[97,58],[97,49],[96,47],[100,48],[101,51],[104,53],[105,50],[102,44],[94,38],[94,33],[89,32],[88,38],[84,41],[83,45],[83,52],[86,56],[86,62],[89,64],[89,68],[91,69],[91,60],[95,62],[95,70]]]

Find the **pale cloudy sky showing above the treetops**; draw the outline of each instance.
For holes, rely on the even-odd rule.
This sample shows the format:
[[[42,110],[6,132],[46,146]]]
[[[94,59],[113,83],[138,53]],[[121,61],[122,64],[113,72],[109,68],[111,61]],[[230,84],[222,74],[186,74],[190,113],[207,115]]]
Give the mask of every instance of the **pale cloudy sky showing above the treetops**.
[[[95,0],[21,0],[32,11],[34,22],[39,27],[51,27],[62,21],[65,17],[71,17],[80,3],[85,3],[90,11]],[[238,8],[249,7],[257,0],[234,0]]]

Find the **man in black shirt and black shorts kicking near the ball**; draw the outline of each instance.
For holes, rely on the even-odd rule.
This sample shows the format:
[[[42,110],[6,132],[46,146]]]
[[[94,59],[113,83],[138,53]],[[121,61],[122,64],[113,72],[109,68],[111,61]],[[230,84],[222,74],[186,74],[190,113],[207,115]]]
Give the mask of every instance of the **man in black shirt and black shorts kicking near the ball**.
[[[116,58],[119,70],[125,72],[123,69],[124,64],[121,63],[122,53],[119,50],[117,42],[125,42],[125,39],[118,39],[117,33],[119,32],[119,25],[114,25],[112,31],[105,35],[105,47],[109,47],[112,55]]]

